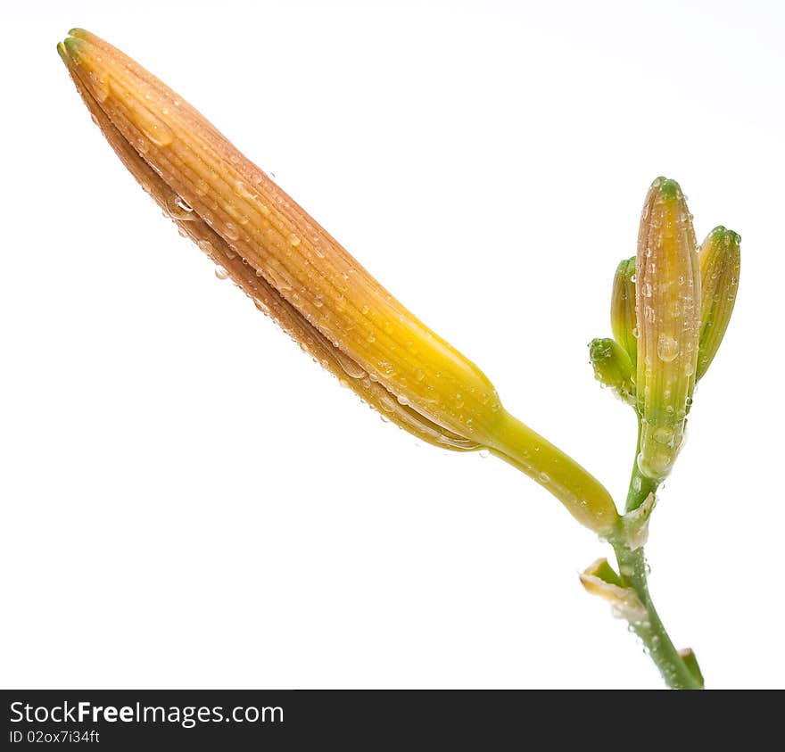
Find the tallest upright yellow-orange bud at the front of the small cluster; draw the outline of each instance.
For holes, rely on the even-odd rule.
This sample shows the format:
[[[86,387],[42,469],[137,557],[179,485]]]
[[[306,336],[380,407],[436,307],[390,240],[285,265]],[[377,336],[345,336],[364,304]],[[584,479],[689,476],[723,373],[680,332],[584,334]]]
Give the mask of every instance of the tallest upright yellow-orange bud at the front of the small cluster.
[[[682,445],[698,367],[700,271],[692,215],[675,180],[654,181],[640,217],[638,307],[640,472],[661,481]]]

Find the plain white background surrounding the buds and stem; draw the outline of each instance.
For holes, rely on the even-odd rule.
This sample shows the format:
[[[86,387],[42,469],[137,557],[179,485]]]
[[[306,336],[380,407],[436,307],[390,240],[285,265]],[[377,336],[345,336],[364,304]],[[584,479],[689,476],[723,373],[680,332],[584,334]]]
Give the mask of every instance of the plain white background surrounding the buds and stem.
[[[55,54],[79,25],[619,499],[634,421],[586,343],[649,182],[681,182],[699,238],[739,231],[651,585],[709,686],[783,685],[779,4],[26,7],[0,74],[0,683],[659,686],[578,583],[603,544],[510,467],[384,425],[161,218]]]

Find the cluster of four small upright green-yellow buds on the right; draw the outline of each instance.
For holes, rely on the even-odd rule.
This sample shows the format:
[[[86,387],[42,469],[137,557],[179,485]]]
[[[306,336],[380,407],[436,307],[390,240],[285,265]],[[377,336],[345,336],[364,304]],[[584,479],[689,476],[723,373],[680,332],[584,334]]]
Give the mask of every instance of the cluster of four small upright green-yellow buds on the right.
[[[616,269],[614,339],[590,343],[595,376],[640,417],[640,473],[662,481],[682,446],[695,384],[723,340],[736,300],[740,236],[715,227],[698,252],[674,180],[657,178],[640,217],[638,252]]]

